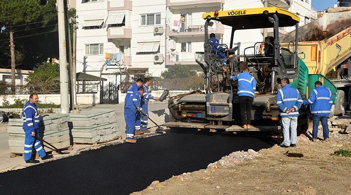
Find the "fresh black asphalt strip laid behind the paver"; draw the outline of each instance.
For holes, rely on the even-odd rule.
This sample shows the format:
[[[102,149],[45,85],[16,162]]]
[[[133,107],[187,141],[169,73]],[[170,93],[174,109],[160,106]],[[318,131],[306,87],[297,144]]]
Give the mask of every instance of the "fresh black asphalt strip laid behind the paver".
[[[269,148],[272,137],[185,131],[139,138],[0,174],[1,195],[126,195],[154,180],[205,169],[234,151]]]

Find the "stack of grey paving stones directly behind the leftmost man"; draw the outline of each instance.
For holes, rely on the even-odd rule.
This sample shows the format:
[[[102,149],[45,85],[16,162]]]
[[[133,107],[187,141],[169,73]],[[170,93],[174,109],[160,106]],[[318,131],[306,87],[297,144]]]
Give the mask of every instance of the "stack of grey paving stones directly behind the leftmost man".
[[[69,115],[67,114],[45,114],[40,116],[39,137],[49,142],[58,149],[70,146]],[[7,126],[9,135],[10,152],[23,154],[25,133],[22,129],[23,119],[10,118]],[[53,151],[53,148],[45,143],[41,143],[46,152]],[[33,149],[35,150],[35,149]]]

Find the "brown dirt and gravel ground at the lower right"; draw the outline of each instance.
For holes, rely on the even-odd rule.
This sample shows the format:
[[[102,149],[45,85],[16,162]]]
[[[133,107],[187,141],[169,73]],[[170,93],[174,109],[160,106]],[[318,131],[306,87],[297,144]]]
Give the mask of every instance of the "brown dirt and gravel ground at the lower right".
[[[350,151],[351,134],[335,128],[330,141],[312,142],[311,126],[298,137],[295,148],[274,145],[229,166],[215,162],[215,167],[154,181],[132,195],[351,195],[351,157],[330,155],[340,149]],[[321,130],[318,137],[323,138]],[[284,155],[287,151],[304,156],[289,157]]]

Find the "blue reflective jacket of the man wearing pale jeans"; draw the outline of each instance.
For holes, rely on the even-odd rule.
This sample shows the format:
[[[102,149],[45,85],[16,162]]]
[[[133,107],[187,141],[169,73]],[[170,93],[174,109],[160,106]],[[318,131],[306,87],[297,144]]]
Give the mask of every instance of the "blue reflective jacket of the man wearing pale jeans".
[[[298,117],[302,102],[300,92],[290,84],[284,85],[277,93],[276,103],[281,117]],[[287,114],[286,112],[291,108],[294,108],[294,112]]]

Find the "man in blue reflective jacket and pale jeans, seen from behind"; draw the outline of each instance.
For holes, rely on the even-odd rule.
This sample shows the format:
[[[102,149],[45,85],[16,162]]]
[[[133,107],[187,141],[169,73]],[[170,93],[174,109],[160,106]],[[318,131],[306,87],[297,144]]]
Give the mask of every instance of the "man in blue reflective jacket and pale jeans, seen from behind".
[[[290,85],[288,78],[280,80],[282,88],[278,90],[276,103],[280,110],[283,124],[283,148],[296,147],[297,117],[302,104],[300,92]]]

